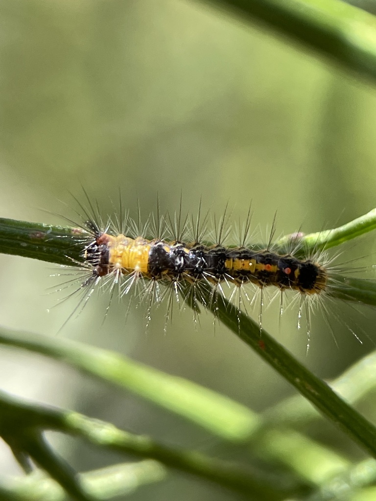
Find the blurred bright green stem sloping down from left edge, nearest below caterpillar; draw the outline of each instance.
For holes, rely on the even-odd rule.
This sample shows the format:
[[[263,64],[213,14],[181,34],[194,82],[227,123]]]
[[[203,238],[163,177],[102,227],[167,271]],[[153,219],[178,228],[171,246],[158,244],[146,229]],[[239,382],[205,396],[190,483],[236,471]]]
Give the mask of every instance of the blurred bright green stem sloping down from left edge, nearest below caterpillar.
[[[259,426],[256,414],[230,398],[118,353],[4,328],[0,329],[0,344],[61,360],[86,374],[126,388],[227,440],[243,442]]]

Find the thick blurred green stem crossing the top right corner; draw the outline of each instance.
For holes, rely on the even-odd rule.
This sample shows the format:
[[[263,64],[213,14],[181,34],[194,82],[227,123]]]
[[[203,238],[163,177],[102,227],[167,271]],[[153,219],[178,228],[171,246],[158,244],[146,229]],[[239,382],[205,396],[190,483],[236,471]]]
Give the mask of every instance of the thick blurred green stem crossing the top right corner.
[[[376,18],[340,0],[210,0],[376,80]]]

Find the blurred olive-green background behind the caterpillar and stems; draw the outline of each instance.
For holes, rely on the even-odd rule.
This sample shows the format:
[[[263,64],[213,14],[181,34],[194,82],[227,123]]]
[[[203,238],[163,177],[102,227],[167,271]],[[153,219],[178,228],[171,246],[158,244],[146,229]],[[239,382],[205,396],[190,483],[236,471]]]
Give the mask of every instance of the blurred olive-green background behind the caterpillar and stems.
[[[104,216],[113,211],[111,200],[117,205],[119,187],[123,205],[135,214],[138,197],[145,218],[157,192],[171,212],[180,192],[194,213],[201,196],[217,216],[229,202],[234,221],[246,217],[252,200],[254,227],[264,234],[275,211],[277,233],[288,233],[328,228],[376,205],[375,91],[305,48],[226,10],[183,0],[14,0],[1,2],[0,13],[3,217],[77,219],[70,193],[81,199],[81,184]],[[374,250],[370,236],[349,256]],[[99,293],[57,334],[77,298],[54,307],[64,296],[55,294],[54,273],[58,267],[0,256],[1,323],[118,350],[257,411],[293,392],[206,313],[195,330],[192,313],[176,310],[164,333],[162,307],[145,332],[142,308],[125,322],[126,305],[113,304],[102,325],[108,297]],[[375,316],[363,310],[360,317],[362,345],[335,320],[333,339],[318,319],[307,355],[296,308],[279,327],[272,305],[263,323],[317,375],[330,378],[374,347]],[[1,357],[3,387],[14,393],[168,444],[209,452],[216,445],[181,418],[73,370],[19,352]],[[329,425],[312,433],[342,440]],[[80,470],[120,460],[53,440]],[[6,447],[0,466],[18,471]],[[178,474],[130,499],[176,496],[230,499]]]

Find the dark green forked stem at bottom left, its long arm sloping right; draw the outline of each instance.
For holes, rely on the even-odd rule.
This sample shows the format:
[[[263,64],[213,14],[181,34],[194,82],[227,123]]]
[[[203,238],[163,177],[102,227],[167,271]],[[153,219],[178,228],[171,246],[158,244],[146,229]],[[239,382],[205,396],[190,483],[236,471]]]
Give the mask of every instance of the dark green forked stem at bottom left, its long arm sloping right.
[[[77,474],[62,464],[62,460],[44,441],[39,440],[41,429],[70,433],[100,447],[155,459],[168,467],[211,480],[260,501],[279,501],[292,494],[284,491],[282,486],[271,487],[266,480],[261,480],[259,472],[256,475],[248,467],[193,450],[172,449],[156,443],[150,437],[119,430],[112,424],[90,419],[77,412],[29,404],[4,392],[0,392],[0,411],[0,434],[5,439],[17,434],[19,447],[25,447],[33,459],[80,501],[94,497],[84,492]]]

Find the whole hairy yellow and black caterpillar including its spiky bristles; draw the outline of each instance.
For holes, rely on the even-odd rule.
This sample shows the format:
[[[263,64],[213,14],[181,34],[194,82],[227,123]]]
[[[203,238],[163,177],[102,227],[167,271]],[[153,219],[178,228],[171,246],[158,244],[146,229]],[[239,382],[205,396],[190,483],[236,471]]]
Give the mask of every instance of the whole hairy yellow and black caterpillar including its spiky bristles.
[[[109,304],[116,289],[120,298],[133,292],[139,302],[146,301],[148,320],[152,305],[160,304],[166,295],[167,309],[172,308],[173,301],[189,303],[196,321],[199,310],[196,304],[198,300],[205,304],[202,293],[205,287],[211,288],[211,302],[216,302],[218,296],[225,297],[225,289],[230,291],[231,301],[238,295],[239,311],[246,303],[253,305],[260,291],[261,329],[263,291],[274,290],[274,295],[280,294],[280,315],[286,294],[295,295],[293,301],[299,303],[298,328],[305,311],[308,349],[312,307],[321,305],[325,314],[327,301],[333,299],[332,291],[338,288],[342,299],[351,299],[347,298],[350,286],[338,278],[340,273],[348,272],[347,264],[334,265],[334,258],[329,258],[326,250],[313,248],[307,253],[301,232],[290,235],[284,246],[276,245],[274,221],[268,243],[252,243],[250,210],[239,231],[238,245],[230,246],[226,241],[233,221],[226,216],[227,208],[220,221],[215,221],[214,243],[211,243],[204,238],[209,213],[201,223],[201,205],[196,220],[181,217],[180,202],[173,220],[168,214],[160,216],[158,203],[156,217],[150,216],[145,224],[141,224],[140,214],[138,222],[129,214],[122,216],[121,208],[114,221],[109,219],[103,224],[98,207],[94,208],[87,199],[90,210],[77,200],[84,213],[79,243],[82,262],[75,262],[74,266],[80,268],[83,278],[73,294],[81,291],[83,295],[75,312],[80,311],[99,285],[109,287]],[[253,288],[253,294],[247,292],[247,286]],[[345,324],[359,340],[349,322]]]

